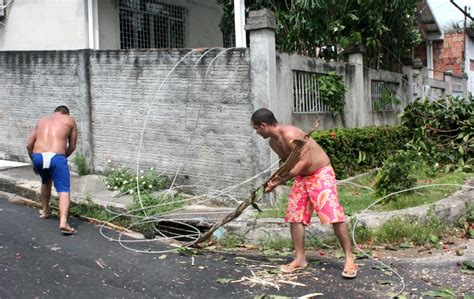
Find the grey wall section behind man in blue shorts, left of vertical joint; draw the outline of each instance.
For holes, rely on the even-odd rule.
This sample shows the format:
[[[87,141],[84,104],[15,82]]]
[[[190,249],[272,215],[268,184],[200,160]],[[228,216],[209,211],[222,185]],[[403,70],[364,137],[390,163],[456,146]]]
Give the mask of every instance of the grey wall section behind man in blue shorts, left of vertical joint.
[[[90,152],[84,51],[0,52],[0,157],[28,161],[36,120],[68,105],[79,128],[78,151]]]

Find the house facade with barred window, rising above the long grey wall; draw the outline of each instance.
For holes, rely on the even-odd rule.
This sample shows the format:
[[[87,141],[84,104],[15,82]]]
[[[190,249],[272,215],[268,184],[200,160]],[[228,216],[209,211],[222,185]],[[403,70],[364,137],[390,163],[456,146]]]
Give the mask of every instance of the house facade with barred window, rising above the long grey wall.
[[[211,48],[229,39],[215,0],[2,1],[2,51]]]

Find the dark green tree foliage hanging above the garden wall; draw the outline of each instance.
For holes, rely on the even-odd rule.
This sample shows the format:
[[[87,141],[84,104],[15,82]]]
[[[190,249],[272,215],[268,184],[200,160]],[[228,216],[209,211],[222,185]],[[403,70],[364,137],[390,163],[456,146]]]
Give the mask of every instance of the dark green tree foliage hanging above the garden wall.
[[[224,7],[221,29],[234,30],[233,0],[217,0]],[[362,44],[367,64],[396,69],[410,58],[421,41],[415,28],[418,0],[254,0],[247,12],[270,8],[276,17],[277,47],[326,60],[341,59],[342,50]]]

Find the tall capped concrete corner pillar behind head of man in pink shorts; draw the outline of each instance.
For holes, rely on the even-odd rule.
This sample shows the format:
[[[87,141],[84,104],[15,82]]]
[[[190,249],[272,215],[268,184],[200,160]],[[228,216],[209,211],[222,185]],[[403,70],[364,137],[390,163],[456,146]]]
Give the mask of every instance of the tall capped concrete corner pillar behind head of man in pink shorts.
[[[279,119],[280,111],[278,111],[278,107],[272,105],[272,102],[275,103],[277,98],[275,50],[275,30],[277,28],[271,10],[262,9],[249,12],[245,30],[250,34],[250,97],[253,111],[259,108],[268,108]],[[252,135],[252,144],[255,173],[267,169],[278,160],[278,157],[271,152],[267,142],[259,135]],[[263,182],[263,178],[260,181]]]

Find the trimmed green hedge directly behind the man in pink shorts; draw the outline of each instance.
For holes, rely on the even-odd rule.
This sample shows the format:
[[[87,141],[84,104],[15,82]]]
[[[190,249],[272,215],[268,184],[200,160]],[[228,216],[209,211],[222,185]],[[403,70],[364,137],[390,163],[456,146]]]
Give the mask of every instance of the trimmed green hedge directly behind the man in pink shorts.
[[[365,127],[316,131],[312,137],[331,158],[338,179],[381,167],[389,154],[409,140],[402,127]]]

